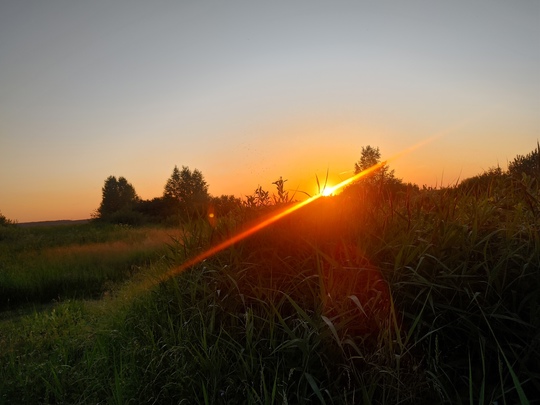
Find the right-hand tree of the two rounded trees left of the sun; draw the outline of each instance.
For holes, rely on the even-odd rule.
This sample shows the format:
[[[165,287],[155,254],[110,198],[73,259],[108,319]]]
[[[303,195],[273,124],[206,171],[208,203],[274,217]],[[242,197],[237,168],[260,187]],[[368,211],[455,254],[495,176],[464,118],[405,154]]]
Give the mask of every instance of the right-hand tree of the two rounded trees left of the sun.
[[[186,166],[179,170],[174,166],[171,177],[165,184],[163,198],[180,215],[200,216],[205,212],[209,201],[208,184],[199,170],[191,171]]]

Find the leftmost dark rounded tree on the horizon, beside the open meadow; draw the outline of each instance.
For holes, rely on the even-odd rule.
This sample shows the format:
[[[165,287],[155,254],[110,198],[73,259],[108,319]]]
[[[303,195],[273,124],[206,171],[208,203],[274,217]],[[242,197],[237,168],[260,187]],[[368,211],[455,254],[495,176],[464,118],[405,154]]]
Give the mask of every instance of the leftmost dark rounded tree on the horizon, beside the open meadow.
[[[124,177],[117,180],[116,177],[109,176],[102,188],[98,217],[106,218],[121,210],[131,209],[138,200],[135,189]]]

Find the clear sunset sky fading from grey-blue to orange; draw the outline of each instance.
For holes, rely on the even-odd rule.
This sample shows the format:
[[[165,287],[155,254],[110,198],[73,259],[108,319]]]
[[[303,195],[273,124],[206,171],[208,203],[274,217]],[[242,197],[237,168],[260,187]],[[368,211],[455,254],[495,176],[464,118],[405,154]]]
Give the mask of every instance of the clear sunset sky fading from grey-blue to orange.
[[[441,186],[540,138],[540,1],[0,0],[0,212],[84,219],[110,176],[212,195]]]

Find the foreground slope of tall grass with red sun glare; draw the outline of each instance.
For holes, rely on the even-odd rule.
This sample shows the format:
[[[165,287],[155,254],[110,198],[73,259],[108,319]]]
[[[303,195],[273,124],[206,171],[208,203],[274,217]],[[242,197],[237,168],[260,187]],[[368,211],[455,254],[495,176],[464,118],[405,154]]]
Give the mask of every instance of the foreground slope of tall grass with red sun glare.
[[[141,288],[217,237],[198,224],[101,301],[1,321],[0,402],[532,401],[540,223],[520,201],[324,199]]]

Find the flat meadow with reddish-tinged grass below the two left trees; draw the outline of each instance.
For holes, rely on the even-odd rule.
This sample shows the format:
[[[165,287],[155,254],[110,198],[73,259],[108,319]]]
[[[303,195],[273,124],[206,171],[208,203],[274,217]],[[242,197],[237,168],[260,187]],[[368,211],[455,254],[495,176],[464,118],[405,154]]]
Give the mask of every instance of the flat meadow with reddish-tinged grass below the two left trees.
[[[165,254],[178,231],[94,225],[11,228],[0,241],[0,308],[99,297]]]

